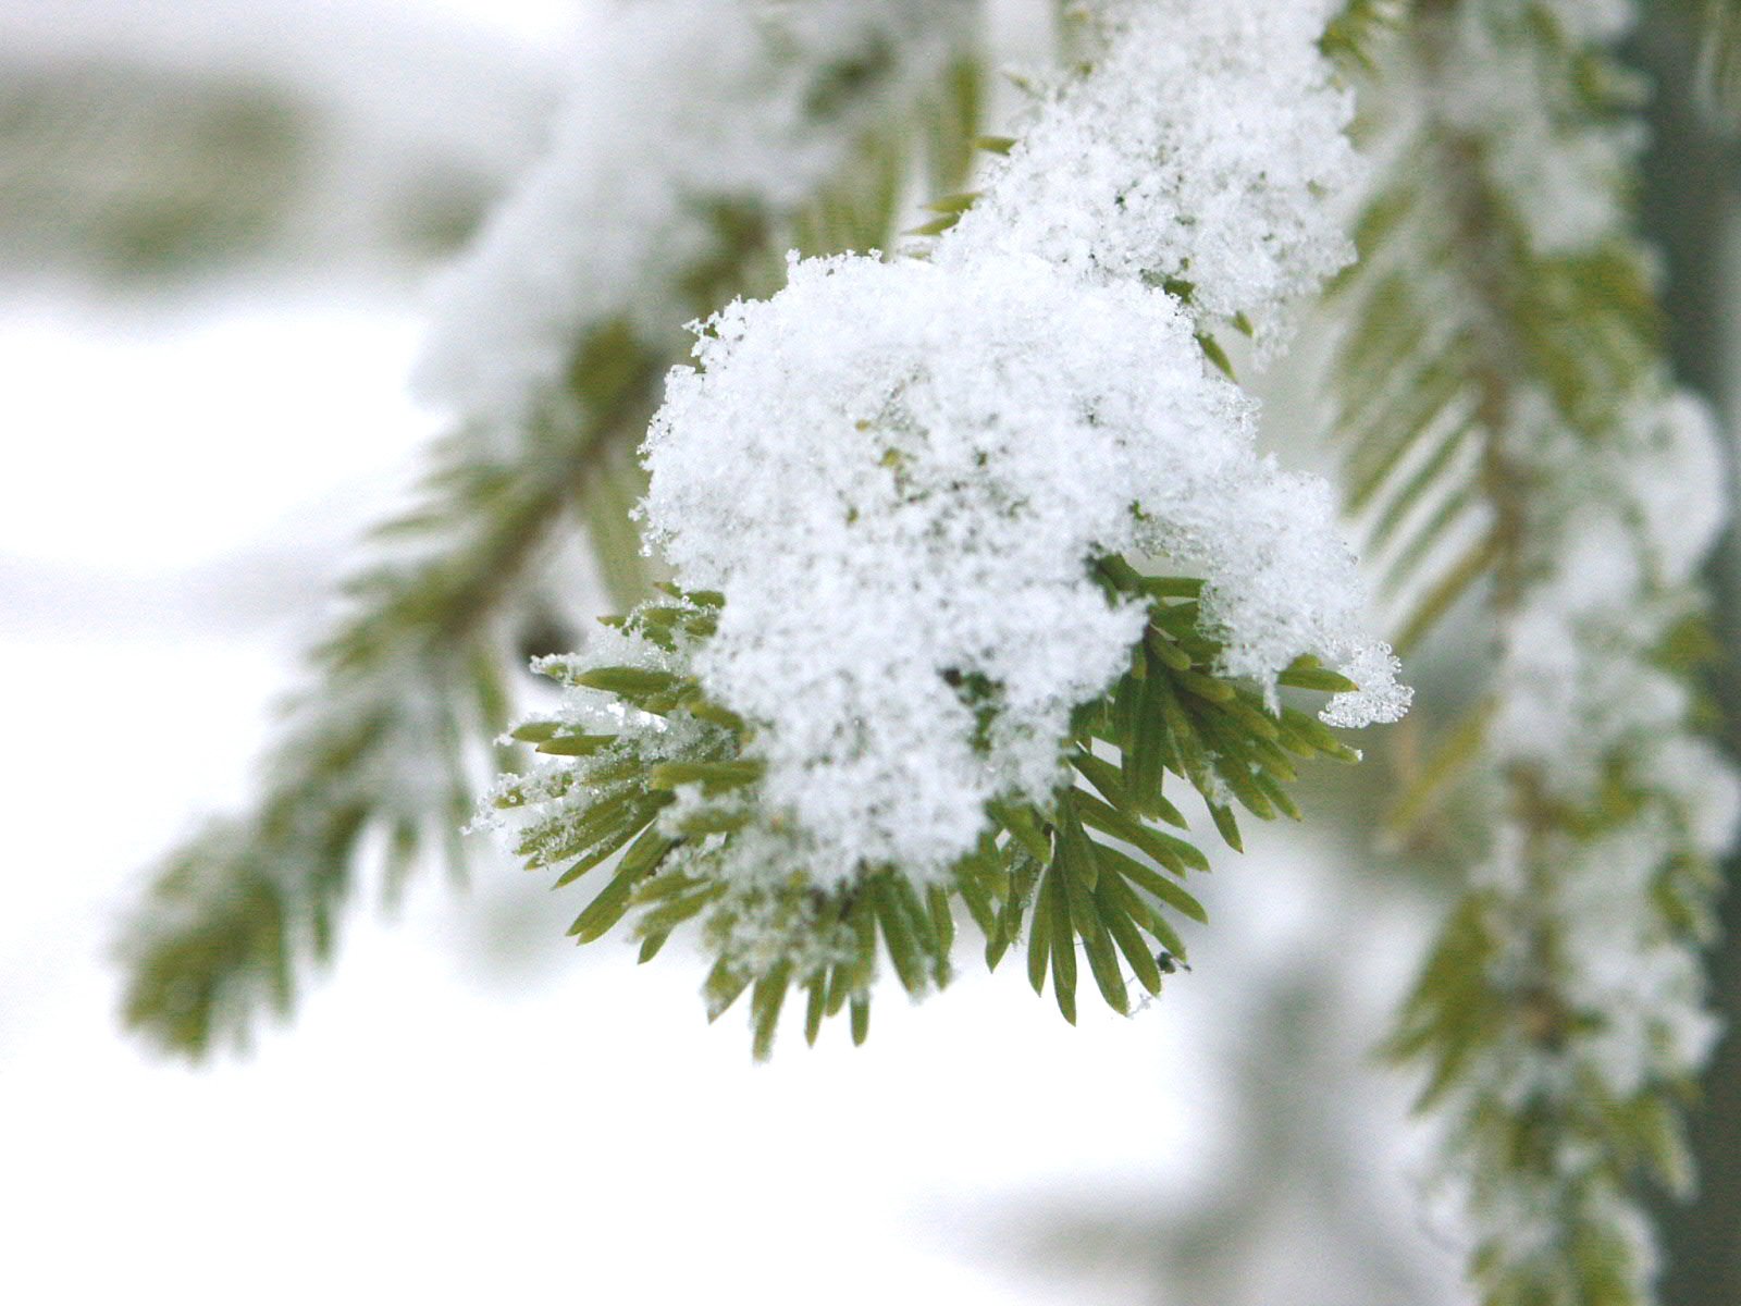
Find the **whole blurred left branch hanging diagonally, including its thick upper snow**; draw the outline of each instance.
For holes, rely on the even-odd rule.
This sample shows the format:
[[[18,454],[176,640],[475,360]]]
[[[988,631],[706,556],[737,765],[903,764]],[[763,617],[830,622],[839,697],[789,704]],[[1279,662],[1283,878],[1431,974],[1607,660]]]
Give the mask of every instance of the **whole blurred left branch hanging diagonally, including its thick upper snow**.
[[[244,1038],[329,956],[371,831],[390,878],[453,839],[522,629],[573,603],[545,592],[580,515],[615,589],[644,585],[616,543],[641,486],[625,454],[681,322],[766,286],[789,244],[884,239],[926,127],[958,185],[971,12],[648,0],[599,33],[547,160],[435,296],[421,387],[458,432],[345,585],[256,803],[174,850],[127,925],[131,1026],[186,1055]]]

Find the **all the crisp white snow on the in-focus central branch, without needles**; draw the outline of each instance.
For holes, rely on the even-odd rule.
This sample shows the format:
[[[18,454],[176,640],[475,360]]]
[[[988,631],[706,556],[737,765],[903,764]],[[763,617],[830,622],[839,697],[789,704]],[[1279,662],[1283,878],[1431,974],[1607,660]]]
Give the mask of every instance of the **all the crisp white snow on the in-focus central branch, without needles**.
[[[1050,796],[1146,622],[1093,582],[1106,554],[1201,575],[1226,674],[1273,690],[1309,653],[1363,677],[1327,719],[1405,709],[1328,493],[1257,456],[1193,317],[1269,320],[1348,256],[1321,193],[1351,172],[1348,101],[1299,10],[1114,7],[1106,61],[933,259],[794,261],[672,374],[651,542],[726,596],[695,670],[756,728],[818,878],[942,876],[987,799]]]

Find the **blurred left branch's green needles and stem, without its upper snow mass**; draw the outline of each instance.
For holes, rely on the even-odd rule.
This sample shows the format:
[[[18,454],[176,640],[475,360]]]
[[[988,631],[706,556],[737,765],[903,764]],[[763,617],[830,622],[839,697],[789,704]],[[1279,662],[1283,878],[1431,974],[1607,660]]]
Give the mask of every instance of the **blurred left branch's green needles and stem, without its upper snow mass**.
[[[632,294],[707,313],[764,286],[789,240],[836,249],[886,239],[916,125],[971,136],[978,82],[970,54],[914,80],[897,77],[886,35],[870,28],[865,42],[862,57],[823,64],[797,87],[818,131],[843,138],[817,192],[684,193],[705,239],[658,268],[660,286]],[[789,57],[771,49],[776,66]],[[961,157],[954,145],[930,155],[944,176]],[[512,714],[521,630],[552,606],[540,562],[564,536],[588,531],[620,601],[644,592],[625,521],[641,493],[630,451],[679,345],[623,303],[583,320],[569,348],[569,366],[510,430],[486,414],[435,449],[420,507],[378,533],[387,561],[346,583],[346,615],[312,655],[312,683],[266,757],[256,804],[174,852],[129,923],[125,1020],[165,1050],[202,1057],[244,1041],[261,1012],[292,1008],[306,963],[333,953],[373,831],[385,831],[390,886],[427,843],[461,867],[470,756]]]

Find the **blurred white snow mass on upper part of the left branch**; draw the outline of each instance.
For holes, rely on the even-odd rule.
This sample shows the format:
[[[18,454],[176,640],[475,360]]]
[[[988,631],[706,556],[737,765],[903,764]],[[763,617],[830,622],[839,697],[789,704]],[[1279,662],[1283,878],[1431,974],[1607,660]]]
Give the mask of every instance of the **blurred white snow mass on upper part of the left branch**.
[[[966,0],[641,0],[595,19],[545,162],[435,287],[416,387],[522,425],[587,331],[670,340],[723,205],[783,214],[935,78]],[[822,104],[822,108],[818,108]]]

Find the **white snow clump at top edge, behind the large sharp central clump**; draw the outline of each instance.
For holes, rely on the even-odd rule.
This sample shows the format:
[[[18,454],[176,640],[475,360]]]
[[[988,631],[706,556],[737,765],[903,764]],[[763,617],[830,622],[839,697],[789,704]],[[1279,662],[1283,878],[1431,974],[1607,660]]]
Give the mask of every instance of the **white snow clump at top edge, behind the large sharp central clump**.
[[[1353,259],[1353,92],[1323,0],[1102,7],[1104,57],[1022,131],[945,247],[1039,254],[1086,280],[1187,282],[1203,324],[1281,308]]]

